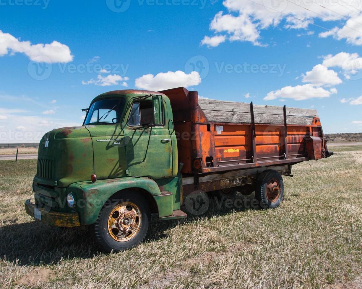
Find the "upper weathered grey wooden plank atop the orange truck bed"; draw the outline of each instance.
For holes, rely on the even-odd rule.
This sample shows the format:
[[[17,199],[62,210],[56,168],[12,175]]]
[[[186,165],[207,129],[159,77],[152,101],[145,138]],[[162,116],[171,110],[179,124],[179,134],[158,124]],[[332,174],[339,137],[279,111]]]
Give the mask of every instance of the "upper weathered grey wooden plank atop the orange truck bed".
[[[249,103],[224,102],[222,100],[199,99],[199,105],[202,110],[209,111],[229,111],[250,113]],[[283,115],[283,107],[274,105],[253,105],[254,113],[263,113],[270,115]],[[286,108],[287,115],[290,116],[318,116],[315,109]]]

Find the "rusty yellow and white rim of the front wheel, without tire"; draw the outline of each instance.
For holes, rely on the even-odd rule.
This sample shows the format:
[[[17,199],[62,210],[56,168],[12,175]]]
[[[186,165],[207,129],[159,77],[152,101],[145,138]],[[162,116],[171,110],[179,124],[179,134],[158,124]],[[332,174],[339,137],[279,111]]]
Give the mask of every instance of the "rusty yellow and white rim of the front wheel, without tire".
[[[134,203],[121,203],[113,208],[108,217],[108,232],[119,242],[131,240],[138,233],[142,223],[139,207]]]

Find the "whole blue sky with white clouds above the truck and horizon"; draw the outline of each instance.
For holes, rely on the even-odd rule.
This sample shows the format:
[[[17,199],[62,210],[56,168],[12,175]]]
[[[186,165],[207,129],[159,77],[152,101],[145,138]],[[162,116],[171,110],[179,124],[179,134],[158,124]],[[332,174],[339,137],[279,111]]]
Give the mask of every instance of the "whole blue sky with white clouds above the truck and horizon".
[[[362,132],[362,0],[0,0],[0,143],[119,89],[313,108]]]

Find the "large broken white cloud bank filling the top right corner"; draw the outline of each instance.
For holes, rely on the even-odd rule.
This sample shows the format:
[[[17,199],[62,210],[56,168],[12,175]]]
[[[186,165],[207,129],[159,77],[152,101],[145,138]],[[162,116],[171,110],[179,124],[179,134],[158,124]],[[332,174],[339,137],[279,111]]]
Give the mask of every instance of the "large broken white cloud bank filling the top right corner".
[[[282,21],[285,23],[284,29],[308,29],[315,20],[341,22],[348,19],[344,27],[336,27],[333,31],[321,33],[319,36],[332,35],[336,39],[345,38],[349,43],[362,45],[361,33],[357,32],[362,31],[362,26],[356,23],[362,23],[362,15],[356,16],[348,5],[335,1],[323,1],[323,5],[318,5],[313,1],[296,0],[278,1],[277,4],[275,5],[274,0],[224,0],[223,5],[226,11],[215,14],[210,23],[210,31],[214,32],[215,36],[226,36],[226,39],[230,41],[248,41],[253,45],[264,46],[265,44],[261,43],[261,30],[276,28]],[[362,3],[357,5],[356,8],[361,10]],[[311,34],[312,32],[307,33],[307,35]],[[209,35],[204,40],[215,36]],[[207,41],[201,43],[211,46]],[[222,42],[212,43],[217,46]]]

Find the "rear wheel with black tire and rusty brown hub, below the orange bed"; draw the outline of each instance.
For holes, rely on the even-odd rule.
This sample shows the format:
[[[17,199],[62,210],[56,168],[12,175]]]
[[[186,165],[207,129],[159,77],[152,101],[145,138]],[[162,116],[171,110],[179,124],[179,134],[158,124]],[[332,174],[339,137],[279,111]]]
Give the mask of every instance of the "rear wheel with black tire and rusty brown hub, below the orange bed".
[[[267,170],[259,175],[256,182],[255,198],[259,201],[260,207],[278,207],[282,202],[283,194],[284,183],[279,172]]]

